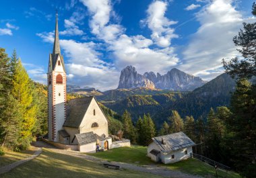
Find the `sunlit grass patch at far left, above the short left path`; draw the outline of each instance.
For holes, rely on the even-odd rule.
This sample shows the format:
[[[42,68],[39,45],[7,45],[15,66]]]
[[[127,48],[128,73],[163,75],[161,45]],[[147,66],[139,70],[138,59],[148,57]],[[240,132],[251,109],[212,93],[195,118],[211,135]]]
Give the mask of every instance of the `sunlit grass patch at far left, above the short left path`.
[[[15,161],[20,161],[21,159],[26,159],[27,157],[32,156],[35,150],[31,147],[29,150],[24,150],[22,152],[13,152],[3,148],[5,154],[0,156],[0,167],[14,163]]]

